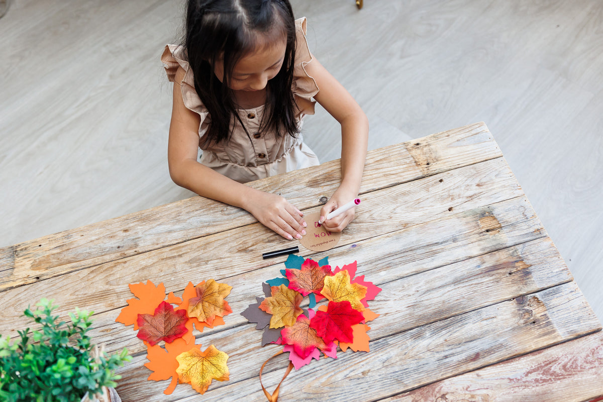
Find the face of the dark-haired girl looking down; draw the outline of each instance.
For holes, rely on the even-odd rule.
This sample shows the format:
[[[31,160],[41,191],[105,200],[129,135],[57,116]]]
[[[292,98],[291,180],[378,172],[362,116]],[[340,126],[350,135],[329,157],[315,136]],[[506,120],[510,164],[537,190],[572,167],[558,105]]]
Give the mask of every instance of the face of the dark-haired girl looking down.
[[[230,89],[233,91],[258,91],[266,87],[268,80],[276,77],[283,66],[286,42],[279,40],[267,43],[253,52],[241,57],[235,64],[230,77]],[[223,60],[216,61],[214,74],[218,80],[224,80]]]

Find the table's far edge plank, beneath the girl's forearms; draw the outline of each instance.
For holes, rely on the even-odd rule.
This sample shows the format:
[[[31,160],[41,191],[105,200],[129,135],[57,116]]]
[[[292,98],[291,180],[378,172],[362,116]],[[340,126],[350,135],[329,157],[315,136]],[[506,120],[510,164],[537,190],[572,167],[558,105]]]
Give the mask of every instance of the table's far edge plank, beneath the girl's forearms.
[[[369,152],[361,193],[500,156],[483,123],[432,134]],[[300,209],[307,209],[319,205],[321,196],[330,196],[339,177],[339,162],[332,161],[250,185],[278,192]],[[201,197],[189,198],[4,248],[0,254],[13,257],[0,260],[0,283],[19,286],[251,222],[255,222],[253,216],[241,209]],[[59,266],[61,269],[54,269]]]

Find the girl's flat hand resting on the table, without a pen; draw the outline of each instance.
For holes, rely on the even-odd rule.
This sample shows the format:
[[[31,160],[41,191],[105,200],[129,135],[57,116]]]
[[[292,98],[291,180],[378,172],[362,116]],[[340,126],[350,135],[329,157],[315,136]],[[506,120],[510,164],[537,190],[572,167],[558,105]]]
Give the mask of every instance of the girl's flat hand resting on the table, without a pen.
[[[280,195],[254,191],[245,203],[245,210],[285,239],[301,239],[306,234],[303,213]]]

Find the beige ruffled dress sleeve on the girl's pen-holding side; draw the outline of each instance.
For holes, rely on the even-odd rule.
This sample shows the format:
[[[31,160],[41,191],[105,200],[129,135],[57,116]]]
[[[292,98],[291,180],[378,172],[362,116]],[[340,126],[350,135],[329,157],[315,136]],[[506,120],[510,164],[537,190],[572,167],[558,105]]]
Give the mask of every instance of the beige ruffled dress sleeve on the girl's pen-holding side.
[[[314,115],[316,101],[312,97],[318,93],[318,86],[314,78],[310,77],[305,69],[312,61],[312,54],[310,53],[308,40],[306,39],[306,17],[295,20],[295,31],[297,33],[297,44],[295,46],[291,90],[299,108],[298,119],[301,119],[304,115]]]

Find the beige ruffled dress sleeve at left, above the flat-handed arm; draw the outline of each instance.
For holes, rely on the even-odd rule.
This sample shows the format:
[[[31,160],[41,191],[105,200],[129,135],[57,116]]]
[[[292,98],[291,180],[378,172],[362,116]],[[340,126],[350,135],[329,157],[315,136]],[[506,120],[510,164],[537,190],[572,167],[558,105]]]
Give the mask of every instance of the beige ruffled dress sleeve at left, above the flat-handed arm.
[[[161,61],[165,64],[165,72],[168,75],[168,80],[174,84],[180,85],[182,99],[186,108],[197,113],[201,118],[199,125],[199,137],[203,136],[211,122],[209,111],[201,102],[201,98],[195,90],[195,78],[189,68],[189,63],[186,57],[186,49],[180,45],[166,45],[161,56]],[[181,68],[185,71],[185,77],[180,83],[175,82],[176,71]]]

